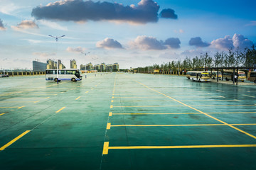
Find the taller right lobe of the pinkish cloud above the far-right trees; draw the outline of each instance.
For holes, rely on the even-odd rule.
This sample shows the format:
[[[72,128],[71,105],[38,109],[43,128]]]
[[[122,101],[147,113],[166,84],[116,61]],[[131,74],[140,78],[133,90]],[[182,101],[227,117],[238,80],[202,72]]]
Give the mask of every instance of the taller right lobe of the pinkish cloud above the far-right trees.
[[[252,47],[253,42],[251,40],[248,40],[243,35],[236,34],[232,38],[233,45],[236,48],[239,48],[240,50],[244,50],[246,47]]]

